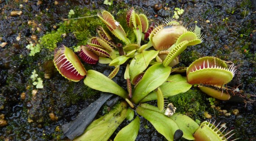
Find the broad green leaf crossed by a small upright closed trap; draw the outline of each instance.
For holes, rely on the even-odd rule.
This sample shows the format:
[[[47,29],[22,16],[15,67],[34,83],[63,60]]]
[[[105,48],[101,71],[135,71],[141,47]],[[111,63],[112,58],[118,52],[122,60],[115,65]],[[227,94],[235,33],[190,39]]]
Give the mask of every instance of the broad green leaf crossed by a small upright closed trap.
[[[185,93],[191,88],[191,84],[188,84],[186,77],[181,76],[180,74],[170,75],[167,82],[164,82],[160,88],[164,94],[164,97],[174,96],[179,93]],[[150,100],[156,100],[156,92],[149,93],[141,102],[146,102]]]

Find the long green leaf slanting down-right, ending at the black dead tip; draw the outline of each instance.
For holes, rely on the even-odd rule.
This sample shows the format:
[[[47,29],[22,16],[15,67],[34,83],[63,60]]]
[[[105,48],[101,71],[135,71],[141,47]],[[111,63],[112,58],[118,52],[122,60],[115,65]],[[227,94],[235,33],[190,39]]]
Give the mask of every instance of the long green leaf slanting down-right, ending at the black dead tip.
[[[178,125],[173,119],[161,114],[160,112],[142,108],[141,106],[136,109],[136,112],[145,119],[149,120],[154,128],[168,141],[173,141],[174,133],[179,129]]]

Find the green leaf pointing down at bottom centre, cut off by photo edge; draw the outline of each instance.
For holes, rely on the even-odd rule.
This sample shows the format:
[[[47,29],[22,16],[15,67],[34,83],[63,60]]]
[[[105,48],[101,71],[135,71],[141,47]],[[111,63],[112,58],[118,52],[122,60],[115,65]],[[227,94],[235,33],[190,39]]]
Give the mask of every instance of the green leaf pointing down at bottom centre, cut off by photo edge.
[[[114,141],[135,141],[139,132],[139,127],[140,119],[138,116],[136,116],[136,118],[131,123],[129,123],[117,133]]]

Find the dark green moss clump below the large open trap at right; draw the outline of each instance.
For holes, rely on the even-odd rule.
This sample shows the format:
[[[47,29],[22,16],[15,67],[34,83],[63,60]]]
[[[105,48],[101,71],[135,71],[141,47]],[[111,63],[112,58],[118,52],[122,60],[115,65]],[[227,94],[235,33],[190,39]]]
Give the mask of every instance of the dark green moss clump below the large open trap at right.
[[[203,117],[203,113],[206,110],[205,94],[199,90],[188,90],[185,93],[180,93],[168,98],[168,103],[173,103],[177,107],[177,112],[186,114],[194,119],[200,119]]]

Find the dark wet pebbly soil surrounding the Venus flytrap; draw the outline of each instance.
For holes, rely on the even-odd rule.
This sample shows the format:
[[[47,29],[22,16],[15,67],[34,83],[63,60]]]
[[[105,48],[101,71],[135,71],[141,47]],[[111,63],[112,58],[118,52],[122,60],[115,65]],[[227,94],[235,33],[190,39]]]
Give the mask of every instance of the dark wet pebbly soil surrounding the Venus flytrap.
[[[93,0],[57,2],[58,4],[54,4],[53,0],[0,0],[0,44],[7,42],[5,47],[0,47],[0,115],[4,114],[4,120],[8,122],[0,127],[0,140],[63,140],[63,133],[58,130],[61,125],[74,120],[79,111],[99,98],[100,92],[86,87],[83,81],[70,82],[58,74],[51,61],[53,52],[42,49],[35,56],[29,56],[29,51],[25,48],[28,44],[38,42],[33,40],[35,37],[31,38],[32,35],[39,39],[47,32],[56,31],[58,23],[67,18],[69,10],[77,7],[87,7],[89,10],[103,8],[114,15],[120,9],[134,7],[136,10],[146,11],[150,21],[156,23],[172,17],[175,7],[182,7],[184,14],[179,20],[184,24],[198,21],[197,25],[201,27],[205,38],[202,44],[188,47],[181,54],[179,65],[188,66],[193,60],[203,56],[230,60],[238,66],[230,86],[239,86],[244,93],[256,95],[256,13],[250,0],[117,0],[111,6],[104,5],[103,1]],[[22,11],[22,15],[10,16],[11,11]],[[210,22],[206,23],[206,20]],[[70,33],[59,44],[72,47],[77,42]],[[105,75],[113,69],[103,64],[85,64],[85,67]],[[43,79],[43,89],[36,89],[32,85],[30,75],[34,69]],[[50,74],[50,79],[44,78],[45,73]],[[119,73],[115,81],[124,86],[121,76]],[[37,93],[32,94],[32,90],[37,90]],[[21,97],[22,93],[25,93],[24,98]],[[250,99],[255,100],[255,97]],[[231,113],[234,109],[239,110],[237,115],[224,116],[210,108],[209,101],[205,100],[207,111],[213,119],[217,123],[227,123],[227,130],[235,130],[236,134],[232,139],[256,141],[256,104],[217,102],[216,105],[222,110]],[[105,108],[106,106],[100,110],[98,116],[104,114]],[[50,119],[50,113],[57,118]],[[201,117],[200,120],[202,122],[206,119]],[[113,137],[126,124],[122,123]],[[165,139],[142,118],[137,140]]]

